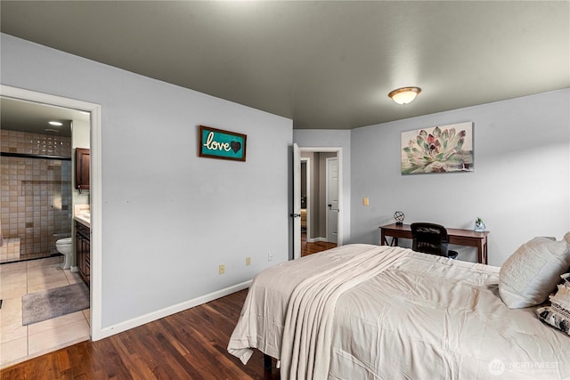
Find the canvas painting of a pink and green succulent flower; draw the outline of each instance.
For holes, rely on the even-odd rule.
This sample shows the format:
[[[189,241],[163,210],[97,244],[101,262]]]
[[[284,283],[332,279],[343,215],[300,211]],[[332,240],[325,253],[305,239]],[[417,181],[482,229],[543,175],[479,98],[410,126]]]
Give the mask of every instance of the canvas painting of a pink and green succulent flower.
[[[402,133],[402,174],[473,171],[473,123]]]

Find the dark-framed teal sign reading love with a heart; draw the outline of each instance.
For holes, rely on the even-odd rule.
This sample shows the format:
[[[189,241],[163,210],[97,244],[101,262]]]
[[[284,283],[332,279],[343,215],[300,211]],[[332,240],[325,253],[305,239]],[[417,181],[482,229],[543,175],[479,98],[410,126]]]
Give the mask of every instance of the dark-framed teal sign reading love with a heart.
[[[198,134],[199,157],[246,160],[247,135],[200,125]]]

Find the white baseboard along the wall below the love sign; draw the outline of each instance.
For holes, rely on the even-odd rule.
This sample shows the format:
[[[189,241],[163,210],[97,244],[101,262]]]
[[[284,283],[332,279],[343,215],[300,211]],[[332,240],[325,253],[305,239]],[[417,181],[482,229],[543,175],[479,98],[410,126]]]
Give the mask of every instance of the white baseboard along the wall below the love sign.
[[[118,323],[117,325],[113,325],[110,327],[103,327],[101,329],[101,334],[96,337],[92,336],[92,340],[95,341],[109,336],[114,336],[115,334],[122,333],[123,331],[130,330],[131,328],[134,327],[142,326],[145,323],[152,322],[153,320],[167,317],[169,315],[175,314],[176,312],[191,309],[192,307],[199,306],[202,303],[208,303],[210,301],[214,301],[218,298],[224,297],[225,295],[231,295],[232,293],[239,292],[240,290],[250,287],[251,282],[252,279],[234,285],[232,287],[226,287],[224,289],[220,289],[214,293],[210,293],[209,295],[201,295],[198,298],[194,298],[193,300],[188,300],[183,303],[177,303],[167,308],[158,311],[153,311],[149,314],[145,314],[134,319],[126,320],[125,322]]]

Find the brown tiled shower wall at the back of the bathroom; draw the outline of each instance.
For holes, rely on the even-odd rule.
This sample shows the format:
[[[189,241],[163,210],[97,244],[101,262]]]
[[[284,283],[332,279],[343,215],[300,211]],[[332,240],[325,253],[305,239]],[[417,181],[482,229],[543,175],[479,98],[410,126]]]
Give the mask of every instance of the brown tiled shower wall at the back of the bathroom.
[[[71,157],[71,138],[0,130],[0,150]],[[0,158],[0,226],[4,239],[20,238],[20,260],[55,252],[71,234],[71,161]]]

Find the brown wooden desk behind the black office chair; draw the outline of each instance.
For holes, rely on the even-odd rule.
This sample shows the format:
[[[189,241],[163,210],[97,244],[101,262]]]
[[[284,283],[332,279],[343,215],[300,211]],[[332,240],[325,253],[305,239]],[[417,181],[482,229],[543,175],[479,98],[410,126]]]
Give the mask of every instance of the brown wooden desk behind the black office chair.
[[[448,228],[447,236],[449,244],[456,244],[458,246],[476,247],[477,248],[477,261],[479,263],[487,263],[487,235],[489,231],[475,232],[474,230],[461,230]],[[386,238],[392,237],[392,246],[398,245],[398,238],[411,239],[410,224],[403,224],[396,226],[395,223],[387,224],[380,227],[380,244],[383,246],[390,246]]]

